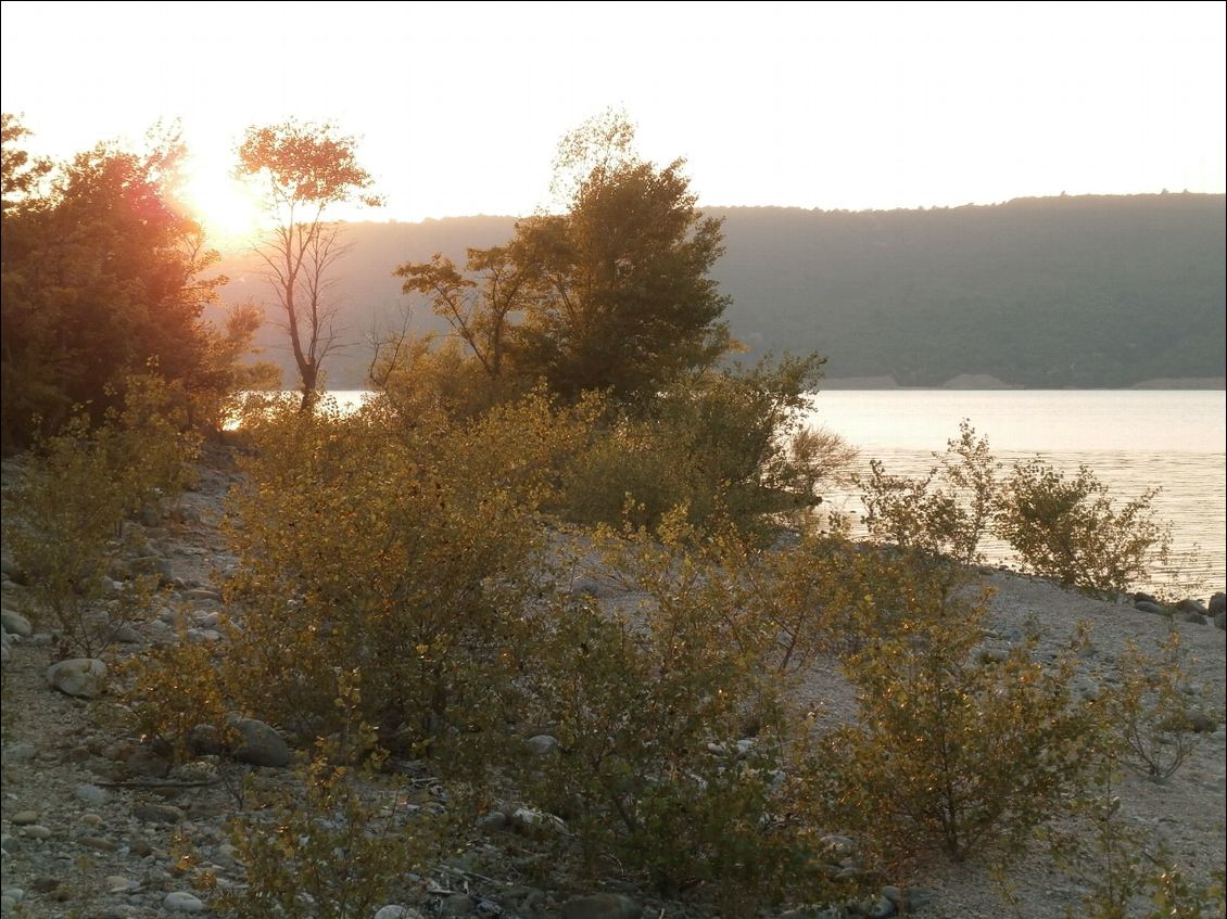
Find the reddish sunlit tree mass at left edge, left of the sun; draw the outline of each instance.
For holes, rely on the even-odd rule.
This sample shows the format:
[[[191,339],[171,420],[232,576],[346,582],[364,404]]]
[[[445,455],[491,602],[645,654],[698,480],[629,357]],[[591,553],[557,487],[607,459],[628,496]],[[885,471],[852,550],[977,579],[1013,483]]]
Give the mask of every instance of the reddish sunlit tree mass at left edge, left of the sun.
[[[98,422],[150,361],[188,395],[207,390],[201,311],[221,278],[201,278],[216,254],[171,194],[183,145],[173,134],[140,153],[101,143],[52,174],[12,146],[23,135],[6,116],[5,448],[39,424],[58,429],[75,404]]]

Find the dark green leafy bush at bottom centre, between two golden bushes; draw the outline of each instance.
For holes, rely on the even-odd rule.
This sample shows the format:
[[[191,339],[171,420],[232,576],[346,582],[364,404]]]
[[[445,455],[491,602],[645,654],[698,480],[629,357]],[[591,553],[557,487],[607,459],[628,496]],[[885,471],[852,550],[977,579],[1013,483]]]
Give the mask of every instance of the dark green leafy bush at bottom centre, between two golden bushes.
[[[558,600],[536,620],[530,712],[562,752],[534,766],[528,789],[566,819],[591,870],[611,854],[666,894],[703,885],[745,914],[821,881],[796,827],[772,817],[784,722],[758,667],[767,636],[755,641],[712,603],[683,521],[666,516],[660,544],[639,531],[626,545],[650,608],[623,616]]]

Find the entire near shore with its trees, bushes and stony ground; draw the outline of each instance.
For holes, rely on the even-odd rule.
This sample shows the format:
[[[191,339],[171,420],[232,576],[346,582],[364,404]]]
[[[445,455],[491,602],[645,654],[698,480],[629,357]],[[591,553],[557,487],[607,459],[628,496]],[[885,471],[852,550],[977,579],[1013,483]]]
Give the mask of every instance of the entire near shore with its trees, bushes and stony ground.
[[[625,115],[557,212],[394,270],[448,333],[383,336],[356,410],[355,138],[240,148],[301,384],[240,397],[260,311],[201,321],[179,145],[4,127],[6,914],[1222,915],[1227,594],[1129,592],[1155,493],[968,420],[853,471],[822,357],[734,360],[721,222]]]

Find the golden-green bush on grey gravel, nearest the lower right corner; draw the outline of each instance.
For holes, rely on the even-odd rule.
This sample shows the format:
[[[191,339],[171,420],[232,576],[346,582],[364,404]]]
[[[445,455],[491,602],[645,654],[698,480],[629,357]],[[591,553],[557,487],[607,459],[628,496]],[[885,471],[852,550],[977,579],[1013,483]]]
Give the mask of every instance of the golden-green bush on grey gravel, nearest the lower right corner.
[[[1052,665],[1034,638],[980,654],[985,598],[957,589],[957,570],[901,555],[883,580],[909,584],[906,604],[865,596],[871,640],[844,662],[860,717],[825,738],[816,781],[888,861],[1011,850],[1079,787],[1097,743],[1070,692],[1075,649]]]

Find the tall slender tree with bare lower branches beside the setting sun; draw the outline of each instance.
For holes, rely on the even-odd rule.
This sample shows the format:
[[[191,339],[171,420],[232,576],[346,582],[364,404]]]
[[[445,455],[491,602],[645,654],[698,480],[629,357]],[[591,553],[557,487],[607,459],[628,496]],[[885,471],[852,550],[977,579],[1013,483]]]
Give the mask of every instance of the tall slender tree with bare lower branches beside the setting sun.
[[[285,121],[253,126],[239,145],[238,173],[264,185],[274,221],[259,248],[285,312],[290,348],[302,382],[303,408],[315,399],[320,366],[336,342],[336,308],[328,301],[330,273],[348,246],[326,218],[333,205],[378,206],[374,180],[358,165],[357,141],[331,124]]]

